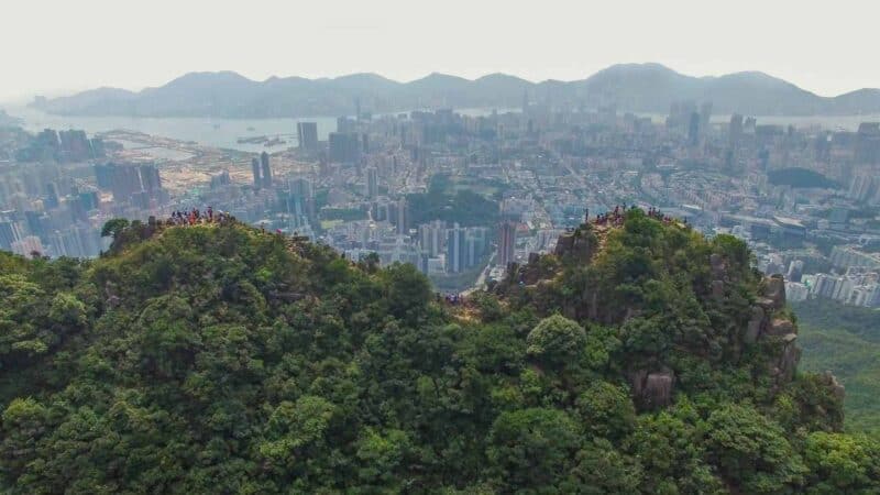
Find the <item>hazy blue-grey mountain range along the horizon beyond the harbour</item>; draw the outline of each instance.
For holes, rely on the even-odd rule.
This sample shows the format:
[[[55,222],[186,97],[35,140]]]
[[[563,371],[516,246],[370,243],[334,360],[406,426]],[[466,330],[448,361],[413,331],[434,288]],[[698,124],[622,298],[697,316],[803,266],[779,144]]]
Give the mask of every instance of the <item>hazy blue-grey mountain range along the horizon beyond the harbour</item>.
[[[518,108],[524,94],[552,106],[667,112],[673,101],[712,101],[716,113],[758,116],[858,114],[880,112],[880,89],[828,98],[763,73],[692,77],[659,64],[622,64],[573,81],[530,82],[492,74],[470,80],[431,74],[398,82],[376,74],[306,79],[248,79],[232,72],[190,73],[158,88],[129,91],[98,88],[36,100],[33,106],[70,116],[270,118],[352,114],[355,100],[373,112],[418,108]]]

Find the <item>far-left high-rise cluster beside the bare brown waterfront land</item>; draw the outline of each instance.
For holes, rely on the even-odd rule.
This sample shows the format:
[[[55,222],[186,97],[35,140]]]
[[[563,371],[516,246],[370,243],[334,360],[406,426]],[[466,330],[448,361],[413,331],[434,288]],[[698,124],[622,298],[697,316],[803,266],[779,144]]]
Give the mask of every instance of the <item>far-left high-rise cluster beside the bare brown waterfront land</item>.
[[[4,150],[14,158],[0,162],[0,250],[97,256],[107,220],[140,218],[170,200],[155,163],[107,161],[102,140],[84,131],[47,129],[14,143]]]

